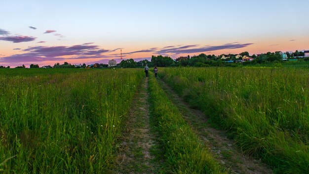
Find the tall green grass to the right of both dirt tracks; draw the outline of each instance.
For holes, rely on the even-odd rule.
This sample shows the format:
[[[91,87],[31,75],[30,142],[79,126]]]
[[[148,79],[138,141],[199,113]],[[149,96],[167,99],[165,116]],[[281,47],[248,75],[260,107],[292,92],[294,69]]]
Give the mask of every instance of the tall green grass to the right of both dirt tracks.
[[[243,153],[274,172],[309,173],[309,70],[164,68],[159,74]]]

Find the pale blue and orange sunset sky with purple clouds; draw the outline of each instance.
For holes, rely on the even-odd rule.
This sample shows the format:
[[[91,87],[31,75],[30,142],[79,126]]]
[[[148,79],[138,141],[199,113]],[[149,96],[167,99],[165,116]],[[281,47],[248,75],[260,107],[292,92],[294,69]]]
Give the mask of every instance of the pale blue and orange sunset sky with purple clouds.
[[[309,0],[0,0],[0,65],[309,50]]]

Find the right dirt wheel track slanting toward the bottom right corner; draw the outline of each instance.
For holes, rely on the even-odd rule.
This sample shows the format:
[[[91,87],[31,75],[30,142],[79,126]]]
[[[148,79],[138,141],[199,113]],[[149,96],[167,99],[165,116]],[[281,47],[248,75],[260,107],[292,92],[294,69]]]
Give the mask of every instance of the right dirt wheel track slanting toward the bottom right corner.
[[[205,115],[190,106],[177,95],[171,87],[158,79],[160,86],[169,98],[179,108],[200,140],[210,149],[213,156],[226,167],[229,174],[272,174],[272,171],[260,161],[245,157],[234,144],[227,138],[225,131],[210,128]]]

